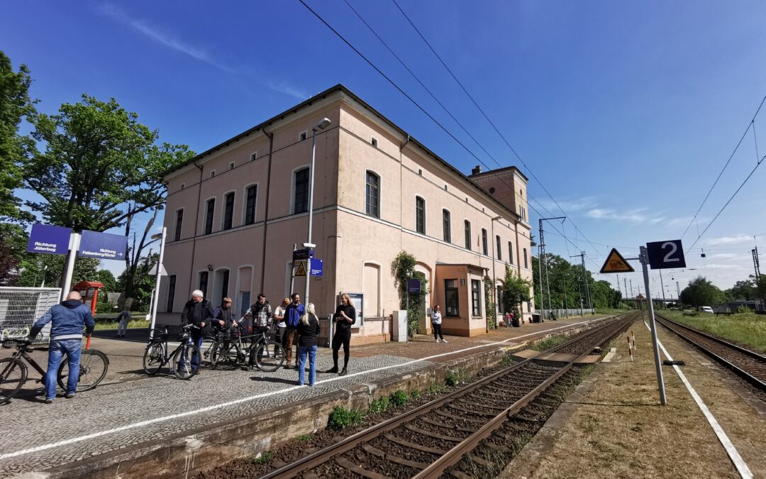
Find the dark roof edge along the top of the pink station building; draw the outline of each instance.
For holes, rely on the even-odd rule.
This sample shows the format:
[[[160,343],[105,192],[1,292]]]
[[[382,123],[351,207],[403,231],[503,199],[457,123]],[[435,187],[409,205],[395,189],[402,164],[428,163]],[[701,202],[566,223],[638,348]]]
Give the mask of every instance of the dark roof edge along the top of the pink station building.
[[[247,136],[250,136],[251,133],[255,133],[259,130],[263,130],[265,126],[270,125],[271,123],[274,123],[278,120],[283,120],[287,115],[290,115],[292,113],[297,113],[299,110],[310,107],[313,103],[316,103],[319,100],[324,100],[326,97],[329,97],[332,94],[336,94],[337,92],[341,92],[342,94],[349,95],[349,97],[352,97],[353,100],[358,102],[362,107],[365,107],[367,110],[370,111],[375,116],[378,116],[382,121],[385,123],[388,123],[391,128],[394,130],[397,130],[399,133],[401,133],[402,136],[409,139],[409,143],[414,143],[418,148],[422,149],[424,152],[428,153],[430,156],[433,156],[434,159],[436,159],[438,162],[441,162],[444,166],[447,167],[447,169],[450,169],[453,173],[455,173],[460,179],[464,179],[466,183],[468,183],[470,186],[472,186],[474,189],[476,189],[477,192],[480,192],[480,194],[484,195],[486,198],[488,198],[491,202],[493,202],[496,205],[499,205],[502,209],[506,210],[506,212],[509,212],[512,216],[522,219],[521,216],[519,216],[518,213],[513,211],[511,208],[508,208],[506,205],[502,204],[502,202],[499,202],[497,198],[495,198],[492,194],[490,194],[486,189],[483,189],[480,185],[476,184],[476,182],[473,182],[472,179],[470,179],[468,176],[463,174],[459,169],[455,168],[450,164],[450,162],[447,162],[447,160],[441,158],[436,153],[428,149],[427,146],[425,146],[423,143],[417,141],[417,139],[414,139],[409,133],[402,130],[396,123],[394,123],[391,120],[388,120],[386,116],[378,112],[378,110],[375,110],[375,108],[371,107],[365,100],[362,100],[362,98],[358,97],[356,94],[354,94],[351,90],[349,90],[347,87],[343,86],[342,84],[337,84],[334,87],[330,87],[327,90],[322,91],[319,94],[314,95],[313,97],[310,97],[308,100],[303,101],[302,103],[298,103],[295,107],[291,107],[287,110],[284,110],[282,113],[279,113],[276,116],[272,116],[269,120],[266,120],[262,123],[257,124],[256,126],[253,126],[249,130],[245,130],[244,132],[238,134],[237,136],[234,136],[230,139],[227,139],[223,143],[220,143],[216,146],[213,146],[211,149],[207,149],[204,152],[198,154],[192,159],[189,159],[186,162],[183,162],[182,164],[178,166],[174,166],[173,168],[167,170],[166,172],[162,173],[162,176],[167,176],[169,173],[177,171],[178,169],[182,169],[185,166],[188,166],[190,164],[195,163],[198,159],[202,159],[205,156],[210,156],[216,152],[218,152],[220,149],[225,148],[231,143],[235,143],[239,141],[240,139],[246,138]],[[513,168],[516,169],[516,166],[509,166],[507,168]],[[495,169],[492,170],[492,172],[498,172],[502,171],[504,169]],[[518,169],[517,169],[518,170]],[[489,173],[489,172],[488,172]],[[482,173],[483,174],[483,173]],[[519,172],[521,174],[521,172]],[[522,175],[523,176],[523,175]],[[524,176],[526,179],[526,176]]]

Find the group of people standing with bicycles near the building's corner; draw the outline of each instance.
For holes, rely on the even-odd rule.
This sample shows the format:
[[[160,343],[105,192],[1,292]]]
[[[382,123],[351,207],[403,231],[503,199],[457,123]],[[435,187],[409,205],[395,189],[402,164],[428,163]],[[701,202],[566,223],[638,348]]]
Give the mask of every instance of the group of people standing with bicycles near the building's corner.
[[[213,309],[208,300],[205,300],[201,290],[191,293],[189,300],[181,313],[182,323],[191,323],[197,326],[191,331],[191,341],[201,348],[205,336],[214,330],[221,331],[228,328],[230,332],[252,331],[258,336],[273,331],[274,338],[280,342],[285,350],[285,369],[290,369],[293,361],[293,345],[296,346],[295,363],[293,367],[298,370],[298,384],[305,384],[306,363],[309,363],[309,386],[316,382],[316,352],[319,346],[319,318],[313,303],[305,306],[300,302],[300,294],[293,293],[290,298],[284,298],[282,303],[272,310],[270,303],[264,294],[259,294],[257,301],[247,309],[244,315],[237,320],[231,310],[231,298],[224,297],[221,306]],[[349,345],[351,342],[351,326],[356,317],[356,310],[351,303],[348,294],[342,294],[341,303],[338,305],[332,317],[335,323],[335,334],[332,336],[332,362],[333,366],[326,372],[339,373],[345,376],[349,366]],[[339,349],[343,346],[344,363],[339,372],[338,359]],[[191,357],[191,369],[199,372],[200,358],[197,354]]]

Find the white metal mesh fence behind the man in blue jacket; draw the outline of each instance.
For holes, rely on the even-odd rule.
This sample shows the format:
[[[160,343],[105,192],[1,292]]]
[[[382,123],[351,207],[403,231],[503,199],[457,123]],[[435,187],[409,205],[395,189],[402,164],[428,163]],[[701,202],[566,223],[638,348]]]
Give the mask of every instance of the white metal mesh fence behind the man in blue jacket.
[[[59,303],[57,287],[0,287],[0,340],[23,339],[45,311]],[[38,334],[34,343],[47,343],[51,323]]]

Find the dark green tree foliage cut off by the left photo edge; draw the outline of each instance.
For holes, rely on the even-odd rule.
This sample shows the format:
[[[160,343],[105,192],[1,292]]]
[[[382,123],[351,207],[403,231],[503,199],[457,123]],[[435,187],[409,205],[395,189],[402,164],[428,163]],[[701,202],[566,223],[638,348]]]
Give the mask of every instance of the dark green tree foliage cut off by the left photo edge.
[[[21,120],[34,114],[35,100],[29,97],[32,80],[25,64],[13,71],[11,60],[0,51],[0,218],[29,221],[31,215],[19,208],[14,190],[22,184],[20,165],[34,151],[34,142],[18,134]]]

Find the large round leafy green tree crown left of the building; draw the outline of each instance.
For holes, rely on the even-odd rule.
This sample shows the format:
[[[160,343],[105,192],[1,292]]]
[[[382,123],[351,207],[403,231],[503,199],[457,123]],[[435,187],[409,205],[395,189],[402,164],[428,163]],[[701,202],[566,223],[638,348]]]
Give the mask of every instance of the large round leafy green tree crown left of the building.
[[[24,177],[44,202],[29,202],[52,225],[104,231],[159,208],[162,172],[193,156],[188,146],[157,145],[156,131],[114,100],[83,94],[56,115],[31,116],[45,149],[25,163]]]

